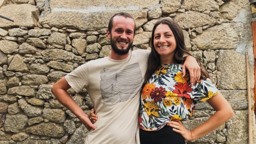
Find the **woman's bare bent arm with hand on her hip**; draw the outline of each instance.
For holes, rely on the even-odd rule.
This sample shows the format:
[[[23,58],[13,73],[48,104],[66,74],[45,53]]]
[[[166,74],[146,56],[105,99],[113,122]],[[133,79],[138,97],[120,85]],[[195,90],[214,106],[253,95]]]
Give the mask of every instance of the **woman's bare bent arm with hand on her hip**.
[[[191,131],[187,130],[179,120],[170,121],[169,126],[173,127],[173,131],[180,133],[185,140],[192,141],[210,133],[234,116],[230,104],[221,93],[213,96],[207,102],[216,112],[203,124]]]

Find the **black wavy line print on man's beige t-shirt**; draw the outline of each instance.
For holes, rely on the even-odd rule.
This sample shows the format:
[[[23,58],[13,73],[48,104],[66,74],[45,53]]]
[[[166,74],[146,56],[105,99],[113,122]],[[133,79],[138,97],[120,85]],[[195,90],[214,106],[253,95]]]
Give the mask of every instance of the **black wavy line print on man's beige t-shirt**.
[[[139,63],[127,65],[122,69],[103,68],[100,78],[103,104],[114,104],[134,98],[143,83]]]

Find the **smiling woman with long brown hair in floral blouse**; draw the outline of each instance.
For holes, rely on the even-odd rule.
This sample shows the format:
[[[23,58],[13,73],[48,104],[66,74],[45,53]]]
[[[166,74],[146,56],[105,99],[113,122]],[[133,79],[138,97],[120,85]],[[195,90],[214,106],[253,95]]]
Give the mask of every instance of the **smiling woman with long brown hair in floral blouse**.
[[[201,68],[201,80],[192,87],[189,74],[182,76],[183,56],[190,54],[182,29],[175,21],[163,19],[155,24],[151,47],[141,93],[141,144],[185,144],[184,139],[198,139],[234,115],[206,70]],[[187,130],[181,121],[192,116],[197,102],[204,101],[216,110],[215,114],[200,126]]]

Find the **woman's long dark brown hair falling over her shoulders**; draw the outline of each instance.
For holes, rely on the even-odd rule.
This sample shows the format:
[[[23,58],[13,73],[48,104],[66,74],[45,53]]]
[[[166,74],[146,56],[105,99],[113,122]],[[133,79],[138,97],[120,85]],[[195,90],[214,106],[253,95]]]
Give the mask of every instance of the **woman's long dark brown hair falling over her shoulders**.
[[[184,35],[182,32],[181,27],[179,26],[178,23],[171,19],[162,19],[159,20],[158,22],[155,23],[153,30],[152,30],[152,36],[150,40],[150,47],[151,47],[151,52],[148,57],[148,63],[147,63],[147,71],[145,74],[145,81],[142,86],[147,83],[148,79],[152,76],[152,74],[155,72],[155,70],[160,66],[160,55],[156,52],[155,47],[154,47],[154,34],[155,34],[155,29],[159,24],[166,24],[170,27],[172,30],[172,33],[175,37],[176,41],[176,49],[175,49],[175,56],[174,56],[174,61],[177,62],[178,64],[182,64],[185,61],[185,58],[183,57],[184,54],[192,56],[185,47],[185,42],[184,42]],[[201,67],[201,77],[200,79],[206,79],[210,78],[209,73],[202,68],[201,62],[196,59],[198,62],[199,66]]]

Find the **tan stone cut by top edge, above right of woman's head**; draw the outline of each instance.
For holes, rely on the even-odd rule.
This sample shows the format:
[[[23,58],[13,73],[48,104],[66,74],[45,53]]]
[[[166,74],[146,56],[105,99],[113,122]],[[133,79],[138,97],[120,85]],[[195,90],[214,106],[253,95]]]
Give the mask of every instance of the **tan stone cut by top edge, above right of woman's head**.
[[[214,0],[184,0],[183,2],[184,8],[187,10],[192,10],[192,11],[206,11],[206,10],[211,10],[211,11],[219,11],[219,5],[216,1]]]

